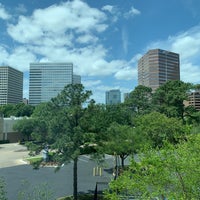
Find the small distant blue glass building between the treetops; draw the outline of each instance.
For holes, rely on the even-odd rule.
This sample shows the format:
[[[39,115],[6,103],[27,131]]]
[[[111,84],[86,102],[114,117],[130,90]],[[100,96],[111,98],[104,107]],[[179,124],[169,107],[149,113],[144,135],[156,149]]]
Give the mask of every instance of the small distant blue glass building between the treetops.
[[[121,92],[120,90],[109,90],[106,91],[106,105],[113,105],[121,103]]]

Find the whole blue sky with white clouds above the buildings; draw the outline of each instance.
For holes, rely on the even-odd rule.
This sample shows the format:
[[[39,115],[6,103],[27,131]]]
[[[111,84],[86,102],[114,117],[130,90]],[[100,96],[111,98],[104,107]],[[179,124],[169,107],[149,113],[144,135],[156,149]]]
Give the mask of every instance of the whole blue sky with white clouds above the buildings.
[[[2,0],[0,65],[73,62],[98,103],[105,92],[137,86],[137,61],[149,49],[180,54],[181,80],[200,83],[199,0]]]

